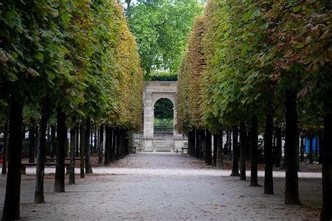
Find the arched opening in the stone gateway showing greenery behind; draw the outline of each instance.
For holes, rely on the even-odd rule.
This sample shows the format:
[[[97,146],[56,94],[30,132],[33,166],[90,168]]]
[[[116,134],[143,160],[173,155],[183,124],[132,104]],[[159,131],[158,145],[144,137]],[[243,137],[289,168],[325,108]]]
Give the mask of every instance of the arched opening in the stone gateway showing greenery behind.
[[[153,116],[153,134],[173,134],[174,106],[170,99],[158,99],[153,107]]]

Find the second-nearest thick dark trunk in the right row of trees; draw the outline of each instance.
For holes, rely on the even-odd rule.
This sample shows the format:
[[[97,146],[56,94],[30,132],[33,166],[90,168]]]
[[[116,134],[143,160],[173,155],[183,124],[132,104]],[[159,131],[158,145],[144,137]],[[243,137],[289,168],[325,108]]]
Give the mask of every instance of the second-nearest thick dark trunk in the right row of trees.
[[[298,155],[296,139],[298,131],[298,113],[296,110],[296,92],[286,90],[286,180],[285,204],[300,204],[298,198]]]

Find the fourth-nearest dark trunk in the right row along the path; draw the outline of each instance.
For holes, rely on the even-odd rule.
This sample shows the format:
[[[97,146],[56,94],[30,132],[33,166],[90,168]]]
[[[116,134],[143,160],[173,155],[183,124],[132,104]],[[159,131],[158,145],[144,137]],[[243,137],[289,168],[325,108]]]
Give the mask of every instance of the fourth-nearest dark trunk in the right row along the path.
[[[258,187],[258,117],[251,115],[251,168],[250,186]]]

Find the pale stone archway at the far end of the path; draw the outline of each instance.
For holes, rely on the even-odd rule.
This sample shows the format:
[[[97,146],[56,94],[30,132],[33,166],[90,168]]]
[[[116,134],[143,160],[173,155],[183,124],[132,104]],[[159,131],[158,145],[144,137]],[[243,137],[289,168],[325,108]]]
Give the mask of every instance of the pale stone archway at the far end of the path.
[[[144,85],[143,103],[144,103],[144,125],[143,125],[143,148],[146,151],[156,151],[153,137],[153,107],[159,99],[170,99],[174,106],[174,125],[177,119],[176,108],[177,81],[149,81]],[[183,138],[177,131],[173,131],[173,145],[170,151],[181,150],[183,147]],[[158,147],[157,147],[158,148]]]

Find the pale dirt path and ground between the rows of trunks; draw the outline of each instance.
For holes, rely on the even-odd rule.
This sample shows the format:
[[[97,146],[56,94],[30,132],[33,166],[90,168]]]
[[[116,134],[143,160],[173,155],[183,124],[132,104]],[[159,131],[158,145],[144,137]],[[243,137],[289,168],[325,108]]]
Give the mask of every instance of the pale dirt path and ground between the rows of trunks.
[[[96,164],[95,157],[92,162]],[[54,168],[46,169],[46,204],[33,204],[35,168],[22,176],[22,220],[319,220],[321,173],[319,165],[301,164],[302,206],[284,205],[284,171],[274,171],[274,195],[225,170],[175,153],[137,153],[53,193]],[[249,168],[248,168],[249,169]],[[260,166],[262,169],[262,166]],[[263,171],[258,171],[263,185]],[[68,179],[66,179],[68,182]],[[2,213],[6,176],[0,176]]]

